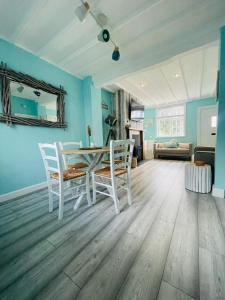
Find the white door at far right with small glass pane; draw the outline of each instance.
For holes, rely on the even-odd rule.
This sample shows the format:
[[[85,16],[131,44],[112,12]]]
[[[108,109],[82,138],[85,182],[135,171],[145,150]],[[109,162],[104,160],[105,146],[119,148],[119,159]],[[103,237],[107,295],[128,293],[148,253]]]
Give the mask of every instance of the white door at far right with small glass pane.
[[[216,146],[217,105],[200,107],[198,113],[198,146]]]

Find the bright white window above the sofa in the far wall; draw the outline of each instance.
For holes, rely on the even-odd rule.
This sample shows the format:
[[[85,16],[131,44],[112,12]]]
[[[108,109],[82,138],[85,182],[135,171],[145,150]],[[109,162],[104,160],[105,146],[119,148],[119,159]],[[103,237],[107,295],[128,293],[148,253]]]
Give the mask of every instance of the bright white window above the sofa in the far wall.
[[[157,136],[184,136],[185,106],[178,105],[157,110]]]

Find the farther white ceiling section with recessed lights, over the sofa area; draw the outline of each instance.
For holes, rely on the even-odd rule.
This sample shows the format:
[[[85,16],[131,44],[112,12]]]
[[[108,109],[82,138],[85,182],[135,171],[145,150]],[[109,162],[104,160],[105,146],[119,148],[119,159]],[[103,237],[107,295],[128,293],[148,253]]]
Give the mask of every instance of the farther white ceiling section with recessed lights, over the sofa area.
[[[219,43],[214,42],[153,67],[116,80],[149,107],[170,105],[216,95]]]

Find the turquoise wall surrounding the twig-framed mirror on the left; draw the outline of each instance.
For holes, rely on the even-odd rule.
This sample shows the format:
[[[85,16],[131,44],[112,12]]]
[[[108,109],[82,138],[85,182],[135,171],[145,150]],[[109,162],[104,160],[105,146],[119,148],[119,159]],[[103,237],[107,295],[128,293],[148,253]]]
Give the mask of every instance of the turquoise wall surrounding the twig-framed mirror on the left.
[[[68,128],[44,128],[0,123],[0,194],[46,180],[39,142],[83,140],[85,121],[82,81],[40,58],[0,39],[0,61],[8,67],[55,86],[63,85]],[[100,119],[101,120],[101,119]]]

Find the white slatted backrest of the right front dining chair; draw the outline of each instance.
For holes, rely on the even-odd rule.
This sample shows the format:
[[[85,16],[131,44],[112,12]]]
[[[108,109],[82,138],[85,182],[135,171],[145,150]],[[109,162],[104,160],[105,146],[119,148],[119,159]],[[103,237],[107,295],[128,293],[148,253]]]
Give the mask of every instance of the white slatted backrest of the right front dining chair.
[[[112,177],[114,170],[117,168],[126,168],[130,172],[134,142],[131,139],[110,141],[110,168]],[[116,160],[119,160],[119,162],[115,163]]]

